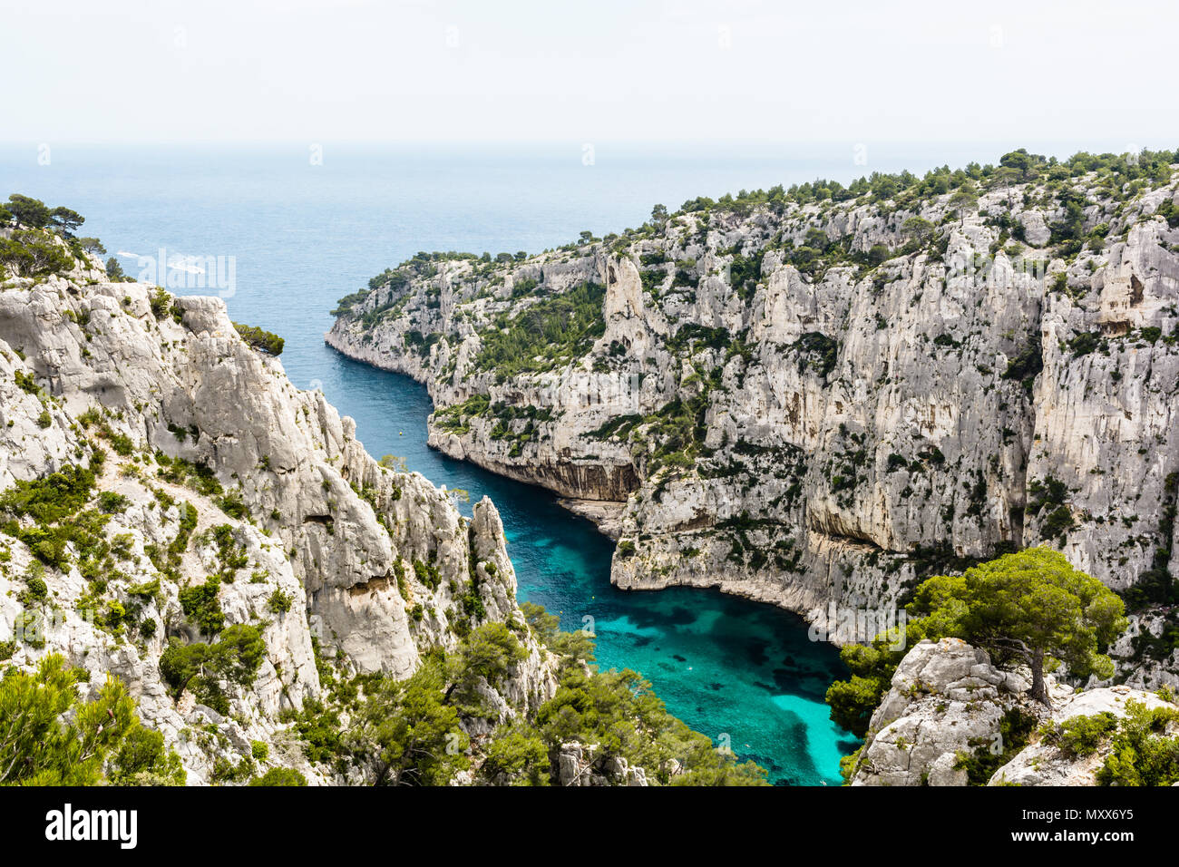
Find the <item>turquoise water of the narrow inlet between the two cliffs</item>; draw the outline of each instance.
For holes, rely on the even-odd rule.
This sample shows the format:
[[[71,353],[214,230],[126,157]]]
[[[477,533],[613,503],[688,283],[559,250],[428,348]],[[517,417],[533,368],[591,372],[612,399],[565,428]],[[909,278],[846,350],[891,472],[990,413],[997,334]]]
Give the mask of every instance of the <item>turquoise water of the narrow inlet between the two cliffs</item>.
[[[856,744],[829,718],[823,694],[838,656],[811,643],[802,619],[719,592],[670,587],[624,592],[610,583],[613,543],[546,491],[452,460],[424,445],[430,400],[411,380],[335,356],[328,396],[356,419],[374,454],[404,457],[435,484],[490,497],[503,518],[520,598],[561,616],[592,617],[598,661],[632,668],[668,710],[713,740],[729,736],[778,783],[838,783],[839,756]],[[399,432],[404,432],[399,435]]]

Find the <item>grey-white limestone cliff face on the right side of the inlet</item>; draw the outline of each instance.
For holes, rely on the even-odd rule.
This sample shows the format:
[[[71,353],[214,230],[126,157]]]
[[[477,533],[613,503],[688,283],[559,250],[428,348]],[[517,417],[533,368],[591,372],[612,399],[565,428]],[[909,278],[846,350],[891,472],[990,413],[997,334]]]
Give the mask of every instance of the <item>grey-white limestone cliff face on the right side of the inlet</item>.
[[[1179,228],[1155,212],[1177,182],[1071,183],[1099,237],[1069,258],[1038,184],[963,215],[948,195],[920,214],[718,208],[608,247],[408,263],[325,339],[426,383],[435,447],[600,518],[623,587],[716,586],[823,622],[1050,544],[1125,589],[1179,573]],[[913,216],[938,245],[904,247]],[[803,272],[789,256],[815,230],[889,258]],[[585,283],[602,291],[592,339],[511,375],[481,359],[502,322]],[[1179,670],[1122,650],[1122,675]]]

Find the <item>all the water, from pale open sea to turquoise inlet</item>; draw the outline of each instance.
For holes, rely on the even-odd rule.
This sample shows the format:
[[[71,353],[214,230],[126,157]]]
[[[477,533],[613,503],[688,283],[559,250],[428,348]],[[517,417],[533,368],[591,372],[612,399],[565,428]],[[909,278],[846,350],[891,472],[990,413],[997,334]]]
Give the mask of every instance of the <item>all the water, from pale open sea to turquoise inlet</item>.
[[[856,744],[828,718],[823,694],[842,668],[832,648],[808,641],[801,618],[713,591],[614,589],[612,543],[588,521],[542,490],[427,448],[426,389],[344,359],[322,335],[336,298],[417,250],[535,252],[581,229],[638,225],[656,202],[674,208],[697,195],[816,175],[850,178],[850,168],[841,175],[815,159],[608,149],[585,166],[578,147],[329,147],[321,166],[299,146],[58,147],[50,166],[35,157],[35,147],[0,149],[0,195],[78,210],[87,218],[80,234],[103,238],[110,254],[154,256],[163,247],[169,256],[233,256],[230,315],[281,334],[291,380],[322,387],[356,419],[370,453],[402,457],[433,482],[466,488],[472,501],[489,495],[520,598],[560,615],[565,629],[592,617],[602,666],[641,672],[671,712],[713,740],[727,737],[773,782],[839,781],[838,758]],[[136,260],[121,262],[138,272]]]

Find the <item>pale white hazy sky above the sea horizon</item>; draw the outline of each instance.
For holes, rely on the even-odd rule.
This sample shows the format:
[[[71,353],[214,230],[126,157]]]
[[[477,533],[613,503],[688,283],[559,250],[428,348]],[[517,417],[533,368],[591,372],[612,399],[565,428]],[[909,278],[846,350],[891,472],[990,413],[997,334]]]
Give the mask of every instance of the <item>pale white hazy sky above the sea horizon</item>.
[[[1179,145],[1173,2],[0,0],[0,140]]]

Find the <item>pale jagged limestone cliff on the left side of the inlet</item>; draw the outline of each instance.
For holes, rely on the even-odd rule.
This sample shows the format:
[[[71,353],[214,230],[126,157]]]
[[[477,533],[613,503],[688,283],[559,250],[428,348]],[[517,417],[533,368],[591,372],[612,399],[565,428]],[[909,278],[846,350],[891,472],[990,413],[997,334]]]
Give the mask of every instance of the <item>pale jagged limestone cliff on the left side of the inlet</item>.
[[[312,783],[338,782],[308,766],[279,722],[322,692],[312,638],[328,656],[342,651],[348,670],[404,677],[420,646],[456,645],[457,620],[520,618],[499,513],[485,499],[468,520],[421,475],[378,465],[351,419],[242,341],[219,298],[157,298],[152,287],[105,282],[90,264],[35,283],[0,274],[0,488],[86,466],[101,447],[97,487],[125,498],[104,532],[126,541],[99,604],[134,606],[154,631],[85,617],[93,585],[77,565],[45,571],[45,606],[24,604],[38,567],[24,543],[0,536],[0,642],[15,639],[22,668],[61,652],[90,671],[93,689],[107,672],[126,681],[191,783],[208,782],[218,760],[249,756],[251,741]],[[216,490],[167,477],[157,452],[206,466]],[[184,530],[189,506],[196,524]],[[208,638],[179,595],[225,567],[218,527],[241,558],[215,591],[225,625],[259,625],[266,644],[252,685],[226,685],[229,716],[190,694],[177,699],[159,670],[170,637]],[[177,539],[173,576],[159,564]],[[473,580],[477,617],[459,599]],[[283,598],[286,610],[274,602]],[[33,609],[44,622],[31,636]],[[505,688],[515,708],[555,688],[547,653],[525,644],[529,657]],[[216,737],[197,735],[206,724]]]

